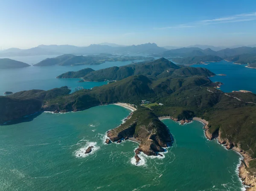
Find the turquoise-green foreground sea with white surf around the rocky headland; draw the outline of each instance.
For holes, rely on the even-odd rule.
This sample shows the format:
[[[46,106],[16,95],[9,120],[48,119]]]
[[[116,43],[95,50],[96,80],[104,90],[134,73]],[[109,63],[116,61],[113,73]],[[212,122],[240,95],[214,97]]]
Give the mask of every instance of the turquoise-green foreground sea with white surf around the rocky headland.
[[[163,159],[132,162],[138,144],[106,145],[105,132],[130,111],[104,105],[0,126],[1,191],[240,191],[239,155],[204,137],[203,125],[163,120],[174,144]],[[31,117],[31,116],[30,116]],[[89,145],[95,150],[85,156]],[[79,157],[80,154],[80,157]]]

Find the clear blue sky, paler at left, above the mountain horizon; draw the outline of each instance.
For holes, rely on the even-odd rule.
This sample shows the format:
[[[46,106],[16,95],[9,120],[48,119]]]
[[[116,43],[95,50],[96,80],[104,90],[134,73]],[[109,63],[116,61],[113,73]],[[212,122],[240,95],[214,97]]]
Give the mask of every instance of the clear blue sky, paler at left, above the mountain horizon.
[[[0,0],[0,50],[256,44],[256,0]]]

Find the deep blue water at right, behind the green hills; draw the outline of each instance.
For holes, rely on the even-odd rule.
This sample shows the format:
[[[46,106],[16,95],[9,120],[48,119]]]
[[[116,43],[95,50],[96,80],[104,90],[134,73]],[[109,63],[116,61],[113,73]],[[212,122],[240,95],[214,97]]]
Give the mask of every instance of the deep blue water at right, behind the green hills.
[[[246,68],[246,65],[233,64],[222,60],[219,63],[208,65],[193,65],[193,67],[207,68],[215,74],[226,74],[227,76],[214,76],[213,82],[222,82],[221,90],[224,92],[247,90],[256,93],[256,69]]]

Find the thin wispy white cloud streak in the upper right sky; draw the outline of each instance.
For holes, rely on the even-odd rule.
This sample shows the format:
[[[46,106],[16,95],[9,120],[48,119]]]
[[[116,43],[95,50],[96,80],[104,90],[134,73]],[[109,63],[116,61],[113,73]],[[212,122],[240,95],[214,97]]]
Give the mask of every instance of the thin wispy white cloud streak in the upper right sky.
[[[253,13],[244,13],[244,14],[236,14],[233,16],[228,17],[220,17],[216,19],[210,20],[200,20],[193,23],[187,23],[177,26],[168,26],[162,28],[155,28],[155,29],[178,29],[178,28],[189,28],[189,27],[196,27],[202,25],[211,25],[211,24],[219,24],[219,23],[236,23],[236,22],[245,22],[250,20],[256,20],[256,12]]]

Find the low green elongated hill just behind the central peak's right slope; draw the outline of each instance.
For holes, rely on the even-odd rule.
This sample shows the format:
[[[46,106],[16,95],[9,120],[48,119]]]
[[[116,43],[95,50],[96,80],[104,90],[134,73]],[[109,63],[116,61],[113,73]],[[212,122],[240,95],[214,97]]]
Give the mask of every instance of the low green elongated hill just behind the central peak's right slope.
[[[192,65],[192,64],[201,64],[205,62],[219,62],[223,60],[221,57],[218,56],[195,56],[195,57],[185,57],[185,58],[173,58],[172,59],[176,63]]]

